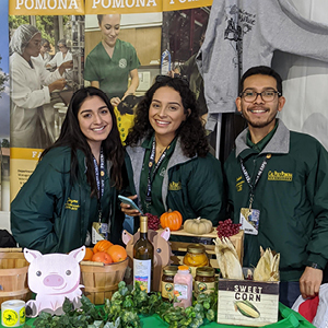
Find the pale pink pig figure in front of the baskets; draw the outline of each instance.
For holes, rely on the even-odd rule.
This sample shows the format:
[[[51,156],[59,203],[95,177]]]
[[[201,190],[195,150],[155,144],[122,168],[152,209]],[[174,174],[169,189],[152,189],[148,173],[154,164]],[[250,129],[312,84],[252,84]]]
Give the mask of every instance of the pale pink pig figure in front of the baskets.
[[[84,258],[85,246],[70,254],[46,254],[24,248],[24,256],[31,263],[27,282],[36,300],[26,303],[26,316],[36,317],[42,311],[60,315],[66,297],[74,307],[81,305],[83,285],[80,284],[79,262]]]

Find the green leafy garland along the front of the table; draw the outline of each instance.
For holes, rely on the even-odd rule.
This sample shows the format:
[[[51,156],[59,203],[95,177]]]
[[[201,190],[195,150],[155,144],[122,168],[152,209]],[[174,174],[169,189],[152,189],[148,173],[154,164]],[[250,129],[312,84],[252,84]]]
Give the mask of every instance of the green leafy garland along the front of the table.
[[[68,300],[63,303],[62,316],[51,316],[42,313],[33,323],[35,328],[140,328],[139,315],[157,314],[169,328],[197,328],[208,321],[214,321],[218,306],[218,294],[199,294],[192,306],[174,307],[164,302],[159,292],[147,293],[137,283],[134,290],[124,281],[118,284],[118,291],[112,300],[106,300],[104,307],[96,307],[84,295],[82,306],[73,309]],[[32,328],[25,324],[24,328]]]

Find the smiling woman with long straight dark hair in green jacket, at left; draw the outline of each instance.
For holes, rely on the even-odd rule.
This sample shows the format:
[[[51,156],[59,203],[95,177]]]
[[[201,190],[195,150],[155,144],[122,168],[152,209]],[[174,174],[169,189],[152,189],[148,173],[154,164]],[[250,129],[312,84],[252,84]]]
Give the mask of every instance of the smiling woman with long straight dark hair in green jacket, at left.
[[[21,247],[43,254],[95,244],[95,226],[117,244],[124,222],[117,190],[124,185],[125,154],[113,106],[99,89],[80,89],[58,140],[11,203],[12,234]]]

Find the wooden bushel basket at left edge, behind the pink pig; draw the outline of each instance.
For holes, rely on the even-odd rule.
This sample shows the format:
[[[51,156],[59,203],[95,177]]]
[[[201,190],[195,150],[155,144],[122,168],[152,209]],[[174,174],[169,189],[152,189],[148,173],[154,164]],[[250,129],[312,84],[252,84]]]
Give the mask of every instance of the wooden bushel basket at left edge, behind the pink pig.
[[[28,301],[26,261],[22,248],[0,248],[0,306],[9,300]]]

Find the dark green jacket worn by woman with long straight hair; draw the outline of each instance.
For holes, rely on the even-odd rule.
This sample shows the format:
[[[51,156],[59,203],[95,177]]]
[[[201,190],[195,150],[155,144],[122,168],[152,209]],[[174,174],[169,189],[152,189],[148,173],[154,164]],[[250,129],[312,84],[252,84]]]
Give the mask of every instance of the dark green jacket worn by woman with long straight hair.
[[[96,218],[90,218],[91,191],[82,151],[78,151],[78,181],[71,185],[71,149],[52,149],[11,203],[11,230],[21,247],[46,254],[68,253],[84,245],[90,222]],[[107,168],[109,166],[107,163]],[[108,178],[105,184],[109,184]],[[110,207],[110,241],[117,243],[124,218],[116,209],[116,190],[109,188],[112,199],[103,199],[103,202]]]

